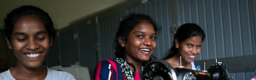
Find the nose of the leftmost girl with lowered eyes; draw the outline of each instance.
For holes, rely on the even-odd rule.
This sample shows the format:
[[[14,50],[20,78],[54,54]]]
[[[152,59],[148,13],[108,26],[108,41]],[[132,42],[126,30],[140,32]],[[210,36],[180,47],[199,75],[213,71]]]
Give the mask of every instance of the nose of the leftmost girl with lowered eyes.
[[[37,48],[39,48],[39,45],[37,44],[37,42],[35,41],[35,39],[28,39],[25,48],[34,51],[37,50]]]

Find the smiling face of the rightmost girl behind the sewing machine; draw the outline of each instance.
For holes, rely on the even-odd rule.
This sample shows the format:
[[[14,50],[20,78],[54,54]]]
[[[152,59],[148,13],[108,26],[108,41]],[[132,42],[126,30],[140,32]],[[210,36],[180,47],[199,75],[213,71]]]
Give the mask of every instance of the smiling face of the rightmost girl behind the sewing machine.
[[[183,42],[178,42],[175,39],[176,48],[178,48],[177,54],[181,56],[183,62],[191,63],[201,52],[202,37],[194,36],[187,38]]]

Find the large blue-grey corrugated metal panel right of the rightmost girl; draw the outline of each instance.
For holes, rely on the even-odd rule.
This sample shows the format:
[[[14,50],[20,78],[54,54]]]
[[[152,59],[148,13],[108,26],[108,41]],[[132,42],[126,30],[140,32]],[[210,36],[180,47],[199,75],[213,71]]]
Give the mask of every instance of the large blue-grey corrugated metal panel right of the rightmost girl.
[[[206,32],[201,57],[197,60],[255,53],[249,0],[178,1],[181,24],[197,23]]]

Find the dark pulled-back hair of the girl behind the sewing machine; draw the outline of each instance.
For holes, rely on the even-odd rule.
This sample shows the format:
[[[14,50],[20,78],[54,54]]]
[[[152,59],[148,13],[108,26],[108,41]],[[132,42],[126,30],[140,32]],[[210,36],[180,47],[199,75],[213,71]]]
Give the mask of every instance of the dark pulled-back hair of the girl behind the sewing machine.
[[[197,24],[194,23],[186,23],[181,25],[181,27],[178,28],[177,32],[174,36],[174,41],[171,49],[169,50],[167,56],[164,59],[171,58],[177,53],[177,48],[175,47],[175,39],[178,39],[178,42],[183,42],[187,38],[199,36],[202,37],[202,42],[204,40],[205,34],[201,27],[199,27]]]

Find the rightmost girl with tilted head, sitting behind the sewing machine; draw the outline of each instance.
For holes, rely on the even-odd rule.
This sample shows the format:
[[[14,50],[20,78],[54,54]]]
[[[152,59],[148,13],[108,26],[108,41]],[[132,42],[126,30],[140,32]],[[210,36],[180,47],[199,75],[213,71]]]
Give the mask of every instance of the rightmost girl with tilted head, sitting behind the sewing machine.
[[[199,64],[194,62],[198,54],[201,52],[201,45],[205,34],[203,30],[193,23],[181,25],[174,36],[173,46],[164,58],[174,68],[181,66],[186,69],[202,71]]]

